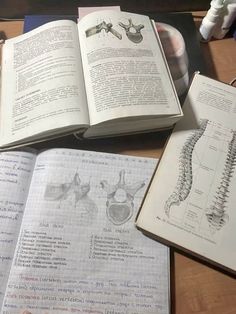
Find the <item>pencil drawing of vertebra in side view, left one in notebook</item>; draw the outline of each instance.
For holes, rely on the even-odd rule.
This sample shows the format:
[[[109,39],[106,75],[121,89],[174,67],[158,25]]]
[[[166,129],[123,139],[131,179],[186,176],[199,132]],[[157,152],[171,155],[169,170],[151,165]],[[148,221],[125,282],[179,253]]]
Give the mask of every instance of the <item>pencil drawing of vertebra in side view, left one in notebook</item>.
[[[46,186],[44,199],[46,201],[58,201],[59,208],[72,207],[78,210],[81,224],[89,224],[97,214],[97,206],[88,196],[90,183],[82,183],[76,172],[68,183],[49,183]]]

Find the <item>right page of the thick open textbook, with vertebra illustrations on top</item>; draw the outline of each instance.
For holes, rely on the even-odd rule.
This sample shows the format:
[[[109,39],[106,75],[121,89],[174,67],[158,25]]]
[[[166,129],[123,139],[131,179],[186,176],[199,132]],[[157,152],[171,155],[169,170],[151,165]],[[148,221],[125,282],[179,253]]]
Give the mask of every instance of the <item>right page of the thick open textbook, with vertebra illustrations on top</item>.
[[[179,114],[164,53],[147,16],[98,11],[78,23],[91,125]]]

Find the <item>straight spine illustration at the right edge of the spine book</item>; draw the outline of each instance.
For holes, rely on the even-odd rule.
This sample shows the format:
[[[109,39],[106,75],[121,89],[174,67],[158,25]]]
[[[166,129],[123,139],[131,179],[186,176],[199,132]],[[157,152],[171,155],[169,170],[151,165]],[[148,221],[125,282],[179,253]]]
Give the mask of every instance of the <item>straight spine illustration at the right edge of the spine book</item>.
[[[226,203],[229,196],[230,181],[236,166],[236,131],[232,133],[222,178],[215,193],[215,200],[206,213],[208,223],[213,230],[220,230],[229,220],[229,216],[226,214]]]

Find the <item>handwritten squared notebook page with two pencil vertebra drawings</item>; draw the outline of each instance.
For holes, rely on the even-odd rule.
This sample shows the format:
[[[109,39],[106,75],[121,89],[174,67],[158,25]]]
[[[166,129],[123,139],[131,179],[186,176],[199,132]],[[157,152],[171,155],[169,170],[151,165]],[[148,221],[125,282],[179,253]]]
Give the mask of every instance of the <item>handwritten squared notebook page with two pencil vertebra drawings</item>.
[[[3,311],[169,313],[168,248],[134,226],[155,165],[86,151],[40,154]]]

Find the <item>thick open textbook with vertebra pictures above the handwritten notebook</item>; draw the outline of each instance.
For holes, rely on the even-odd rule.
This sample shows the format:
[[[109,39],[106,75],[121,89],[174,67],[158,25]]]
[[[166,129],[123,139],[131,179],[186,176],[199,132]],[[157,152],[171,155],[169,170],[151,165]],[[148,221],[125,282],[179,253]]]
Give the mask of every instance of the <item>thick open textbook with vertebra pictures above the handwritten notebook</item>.
[[[3,47],[0,148],[78,132],[102,137],[182,117],[154,23],[97,11],[47,23]]]

